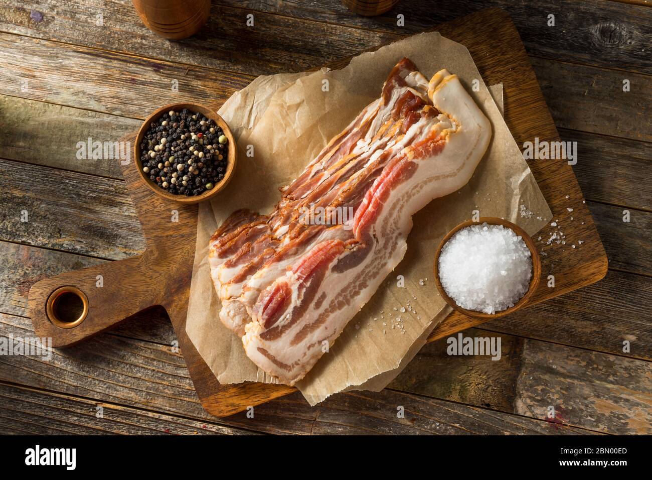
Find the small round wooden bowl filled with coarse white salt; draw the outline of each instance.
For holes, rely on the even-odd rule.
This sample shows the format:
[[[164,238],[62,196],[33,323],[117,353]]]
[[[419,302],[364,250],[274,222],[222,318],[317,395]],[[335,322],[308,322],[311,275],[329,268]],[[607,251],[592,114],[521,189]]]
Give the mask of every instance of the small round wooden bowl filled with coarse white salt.
[[[471,228],[469,229],[469,227]],[[484,238],[482,238],[480,231],[482,231],[484,227],[486,227],[486,230],[483,231]],[[503,229],[500,227],[503,227]],[[468,229],[467,232],[469,232],[469,235],[463,234],[466,235],[466,238],[457,236],[455,239],[455,247],[458,252],[457,258],[460,259],[459,252],[464,252],[465,245],[468,246],[469,249],[479,248],[479,250],[475,252],[469,251],[467,258],[460,259],[459,268],[467,268],[467,270],[462,270],[460,272],[455,270],[456,265],[454,264],[454,253],[451,253],[449,250],[450,246],[447,246],[447,244],[449,244],[449,240],[455,237],[458,232],[464,229]],[[505,229],[507,229],[507,231]],[[512,231],[516,236],[509,234],[509,231]],[[490,232],[494,232],[499,236],[494,236],[492,239],[492,236],[487,236]],[[473,235],[477,236],[475,240],[473,240]],[[509,257],[501,255],[501,259],[508,258],[508,260],[504,265],[504,270],[498,270],[499,276],[497,276],[496,274],[492,275],[491,268],[500,267],[495,264],[496,262],[492,264],[492,259],[486,259],[484,255],[481,254],[490,253],[492,251],[492,242],[501,242],[501,238],[504,238],[507,244],[497,245],[495,246],[497,247],[496,249],[499,250],[502,247],[503,252],[505,252],[505,248],[513,248],[516,259],[512,261]],[[479,246],[475,246],[473,242],[478,241],[481,241],[482,243]],[[466,244],[460,242],[466,242]],[[523,243],[527,247],[527,250],[529,250],[529,257],[527,256],[527,253],[525,253],[526,251],[523,248]],[[451,246],[452,245],[454,244],[451,244]],[[445,260],[441,265],[443,267],[441,273],[445,276],[443,284],[439,277],[442,252],[444,252]],[[479,261],[477,264],[474,264],[469,268],[468,263],[472,263],[471,259],[474,258],[474,253],[477,254],[475,255],[475,258]],[[487,289],[486,296],[490,296],[491,291],[488,289],[494,291],[496,289],[504,290],[505,287],[510,287],[510,281],[516,281],[517,289],[514,290],[513,295],[520,295],[518,289],[526,287],[524,279],[524,264],[527,264],[527,258],[531,259],[531,278],[529,278],[529,283],[527,283],[527,290],[522,293],[520,298],[512,298],[513,301],[510,301],[508,295],[507,300],[502,300],[502,302],[497,301],[495,302],[496,304],[492,304],[492,302],[488,302],[487,304],[479,302],[480,304],[477,304],[477,296],[483,295],[482,293],[479,293],[482,292],[483,288]],[[474,271],[474,268],[476,271]],[[486,268],[486,270],[481,271],[482,268]],[[454,271],[451,272],[451,269]],[[434,273],[435,284],[437,285],[439,295],[441,295],[447,304],[454,308],[454,310],[464,313],[464,315],[468,315],[469,317],[489,320],[516,312],[516,310],[523,308],[529,302],[539,286],[539,280],[541,280],[541,257],[539,256],[534,240],[521,227],[501,218],[481,217],[478,221],[467,220],[460,223],[460,225],[448,232],[448,234],[441,240],[435,253]],[[514,280],[513,277],[516,275],[522,276],[523,278],[520,278],[520,280],[516,278],[516,280]],[[466,288],[467,291],[471,293],[471,297],[468,295],[466,297],[464,296]],[[496,299],[494,298],[494,300]],[[475,308],[465,308],[465,306]]]

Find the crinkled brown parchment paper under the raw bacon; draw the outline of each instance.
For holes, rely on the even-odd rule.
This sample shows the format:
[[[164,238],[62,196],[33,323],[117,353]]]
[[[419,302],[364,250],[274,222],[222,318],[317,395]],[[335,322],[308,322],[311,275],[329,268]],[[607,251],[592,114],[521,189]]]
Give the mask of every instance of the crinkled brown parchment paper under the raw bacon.
[[[237,138],[238,165],[225,191],[200,204],[186,332],[220,383],[274,382],[244,355],[241,339],[218,318],[220,302],[210,277],[211,234],[239,208],[269,213],[288,184],[355,116],[377,97],[394,65],[409,57],[430,78],[457,74],[493,127],[488,152],[469,183],[434,200],[413,217],[408,252],[297,388],[311,405],[345,389],[382,389],[450,312],[432,279],[436,246],[468,219],[504,217],[534,234],[551,217],[520,149],[484,85],[467,49],[438,33],[422,33],[364,53],[348,67],[256,78],[220,108]],[[477,91],[473,91],[477,80]],[[252,154],[252,156],[248,156]],[[520,213],[521,205],[527,212]]]

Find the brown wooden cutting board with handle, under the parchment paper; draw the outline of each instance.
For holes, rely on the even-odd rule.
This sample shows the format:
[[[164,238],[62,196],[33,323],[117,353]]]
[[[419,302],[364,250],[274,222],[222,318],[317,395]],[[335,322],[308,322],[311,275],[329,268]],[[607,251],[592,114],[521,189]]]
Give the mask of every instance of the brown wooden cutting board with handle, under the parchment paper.
[[[502,82],[505,121],[517,144],[533,141],[535,137],[540,141],[559,141],[524,46],[506,12],[497,8],[482,10],[432,30],[464,44],[487,85]],[[329,67],[342,68],[348,61],[342,59]],[[219,105],[211,107],[217,109]],[[134,142],[134,138],[135,134],[121,140]],[[554,219],[563,221],[567,238],[583,240],[580,248],[561,244],[545,246],[547,238],[542,234],[544,238],[538,245],[545,246],[547,255],[542,257],[544,278],[533,296],[536,303],[602,279],[607,272],[607,257],[572,167],[563,160],[533,160],[529,166]],[[38,336],[52,337],[55,347],[72,345],[160,305],[170,316],[201,404],[209,413],[224,417],[295,391],[282,385],[217,382],[185,330],[198,207],[156,196],[143,183],[132,163],[121,168],[142,224],[145,252],[35,283],[29,292],[29,314]],[[567,211],[569,204],[574,207],[573,212]],[[173,221],[173,216],[178,220]],[[554,287],[548,287],[550,272],[554,272]],[[48,319],[48,297],[62,286],[78,287],[88,298],[87,317],[74,328],[57,327]],[[479,323],[478,319],[452,313],[433,330],[428,340],[432,342]]]

